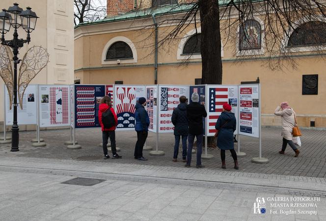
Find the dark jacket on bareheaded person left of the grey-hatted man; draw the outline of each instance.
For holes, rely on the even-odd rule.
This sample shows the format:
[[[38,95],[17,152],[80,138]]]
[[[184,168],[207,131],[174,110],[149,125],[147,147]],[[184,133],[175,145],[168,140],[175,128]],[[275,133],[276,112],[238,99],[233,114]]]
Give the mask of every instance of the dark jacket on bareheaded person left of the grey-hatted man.
[[[187,104],[181,103],[173,110],[171,117],[175,136],[188,136]]]

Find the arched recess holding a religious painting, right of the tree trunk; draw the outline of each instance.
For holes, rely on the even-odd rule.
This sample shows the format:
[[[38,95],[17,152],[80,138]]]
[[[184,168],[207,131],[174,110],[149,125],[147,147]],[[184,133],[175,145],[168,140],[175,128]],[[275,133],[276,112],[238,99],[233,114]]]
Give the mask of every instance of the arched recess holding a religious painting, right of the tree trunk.
[[[262,27],[256,20],[247,20],[240,26],[239,50],[257,50],[262,48]]]

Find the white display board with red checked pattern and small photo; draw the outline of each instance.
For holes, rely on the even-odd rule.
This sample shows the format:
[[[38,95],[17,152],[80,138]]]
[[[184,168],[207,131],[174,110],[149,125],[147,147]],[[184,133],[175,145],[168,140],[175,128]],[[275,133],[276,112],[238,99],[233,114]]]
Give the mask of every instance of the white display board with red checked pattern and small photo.
[[[40,127],[70,126],[70,85],[39,85]]]

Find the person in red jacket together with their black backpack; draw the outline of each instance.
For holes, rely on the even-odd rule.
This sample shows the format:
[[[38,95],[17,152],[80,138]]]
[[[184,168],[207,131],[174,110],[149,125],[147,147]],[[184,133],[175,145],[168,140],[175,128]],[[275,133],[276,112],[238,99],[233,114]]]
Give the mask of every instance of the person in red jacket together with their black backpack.
[[[104,116],[104,118],[102,116]],[[99,122],[102,128],[102,139],[103,139],[102,145],[103,145],[104,159],[110,158],[108,155],[108,147],[107,147],[109,138],[110,138],[111,150],[113,154],[112,159],[120,159],[121,156],[119,156],[116,153],[116,146],[115,146],[115,127],[118,124],[118,118],[112,108],[111,98],[109,96],[105,96],[101,100],[101,104],[99,107]],[[106,127],[106,125],[110,125],[110,126]]]

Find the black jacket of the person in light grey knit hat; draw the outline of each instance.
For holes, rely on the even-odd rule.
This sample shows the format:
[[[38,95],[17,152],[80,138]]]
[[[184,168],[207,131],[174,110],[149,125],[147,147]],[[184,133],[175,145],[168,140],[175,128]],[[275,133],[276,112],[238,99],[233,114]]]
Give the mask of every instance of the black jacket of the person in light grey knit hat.
[[[187,105],[187,117],[189,122],[189,134],[201,135],[204,134],[203,117],[207,116],[204,105],[198,102],[192,102]]]

